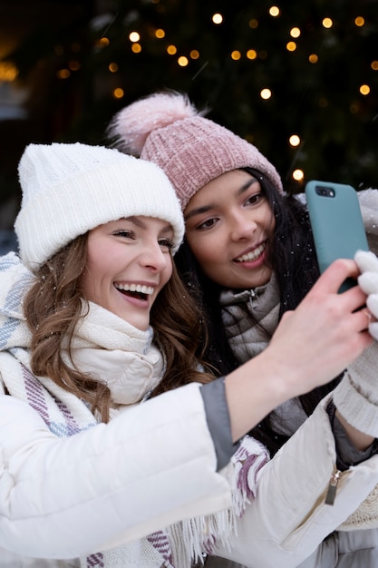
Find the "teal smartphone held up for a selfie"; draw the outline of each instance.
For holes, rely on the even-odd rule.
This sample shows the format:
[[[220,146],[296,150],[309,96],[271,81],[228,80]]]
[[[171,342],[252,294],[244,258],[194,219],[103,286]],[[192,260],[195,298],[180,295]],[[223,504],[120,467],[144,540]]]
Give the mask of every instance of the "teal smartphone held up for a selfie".
[[[357,250],[369,250],[357,191],[352,185],[308,181],[305,197],[320,272],[336,259],[354,259]],[[355,286],[347,279],[339,292]]]

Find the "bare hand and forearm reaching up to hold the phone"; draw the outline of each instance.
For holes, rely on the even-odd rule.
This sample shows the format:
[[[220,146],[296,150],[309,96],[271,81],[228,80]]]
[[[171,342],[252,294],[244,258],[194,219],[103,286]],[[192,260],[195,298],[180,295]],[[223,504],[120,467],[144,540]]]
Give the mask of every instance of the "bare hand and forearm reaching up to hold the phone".
[[[337,293],[358,273],[353,260],[336,260],[286,312],[267,349],[226,377],[234,440],[282,402],[332,380],[373,342],[358,311],[366,299],[362,289]]]

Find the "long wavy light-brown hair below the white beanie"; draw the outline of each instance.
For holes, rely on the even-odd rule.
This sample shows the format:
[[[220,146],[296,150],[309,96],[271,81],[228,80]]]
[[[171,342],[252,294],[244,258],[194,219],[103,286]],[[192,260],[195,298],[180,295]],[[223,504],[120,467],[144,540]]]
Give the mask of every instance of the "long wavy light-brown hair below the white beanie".
[[[34,375],[50,377],[77,397],[92,412],[109,421],[111,393],[101,381],[64,363],[68,340],[71,353],[76,324],[82,316],[82,274],[86,267],[88,233],[57,252],[34,274],[34,284],[24,298],[24,316],[32,331],[31,365]],[[199,308],[189,297],[173,264],[172,277],[160,291],[150,312],[154,343],[166,362],[164,377],[152,396],[190,382],[208,383],[214,378],[202,358],[206,326]],[[199,350],[199,346],[200,350]],[[205,372],[199,371],[199,366]]]

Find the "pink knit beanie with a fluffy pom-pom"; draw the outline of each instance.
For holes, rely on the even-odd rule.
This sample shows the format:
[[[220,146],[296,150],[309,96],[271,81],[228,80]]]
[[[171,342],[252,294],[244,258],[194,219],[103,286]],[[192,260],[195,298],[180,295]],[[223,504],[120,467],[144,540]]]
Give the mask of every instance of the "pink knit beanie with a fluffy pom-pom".
[[[182,210],[208,181],[241,168],[261,171],[283,192],[276,168],[256,146],[204,113],[186,95],[154,93],[117,113],[108,134],[121,152],[155,162],[166,172]]]

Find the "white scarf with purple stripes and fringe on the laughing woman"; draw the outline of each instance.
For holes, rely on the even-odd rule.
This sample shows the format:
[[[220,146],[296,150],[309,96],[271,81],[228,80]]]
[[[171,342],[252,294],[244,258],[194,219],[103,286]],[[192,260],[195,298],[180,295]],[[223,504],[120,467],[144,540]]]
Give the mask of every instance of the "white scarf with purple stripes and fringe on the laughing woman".
[[[81,399],[55,385],[50,378],[37,378],[31,372],[28,351],[31,335],[22,312],[24,290],[31,278],[14,253],[0,258],[0,391],[26,401],[56,436],[72,436],[95,426],[97,419]],[[136,362],[138,370],[141,366],[147,369],[137,391],[131,393],[129,402],[135,402],[136,396],[140,400],[147,397],[162,376],[162,357],[153,346],[152,338],[150,329],[143,332],[132,328],[110,312],[91,304],[88,316],[81,320],[73,338],[73,358],[88,370],[88,361],[101,348],[102,354],[108,350],[109,357],[114,353],[120,355],[121,351],[129,357],[128,364]],[[87,357],[88,350],[90,357]],[[106,367],[108,363],[109,360]],[[119,397],[122,389],[127,388],[126,379],[123,375],[116,377],[115,396],[112,392],[115,404],[125,404]],[[202,553],[212,553],[217,542],[231,542],[237,530],[237,518],[254,498],[257,473],[267,460],[266,449],[253,438],[246,437],[222,472],[228,478],[233,495],[230,510],[190,519],[111,551],[92,553],[80,559],[82,568],[189,568],[192,561],[201,562]]]

